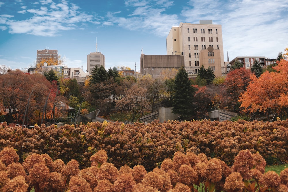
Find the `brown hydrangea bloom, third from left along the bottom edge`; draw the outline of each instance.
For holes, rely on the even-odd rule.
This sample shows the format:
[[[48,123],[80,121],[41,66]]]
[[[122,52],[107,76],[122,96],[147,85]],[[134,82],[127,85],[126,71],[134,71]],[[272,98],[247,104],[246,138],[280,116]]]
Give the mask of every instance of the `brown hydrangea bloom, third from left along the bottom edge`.
[[[46,185],[44,191],[64,191],[65,184],[62,180],[62,175],[57,172],[51,172],[48,177],[48,185]]]

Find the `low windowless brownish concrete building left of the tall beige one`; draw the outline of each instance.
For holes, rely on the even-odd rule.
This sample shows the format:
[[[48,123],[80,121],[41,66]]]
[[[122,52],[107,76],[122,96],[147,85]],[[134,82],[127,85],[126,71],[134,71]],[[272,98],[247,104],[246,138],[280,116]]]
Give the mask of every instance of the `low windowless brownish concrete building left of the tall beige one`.
[[[184,65],[184,56],[182,55],[145,55],[140,57],[140,73],[142,75],[150,74],[157,77],[164,69],[179,69]]]

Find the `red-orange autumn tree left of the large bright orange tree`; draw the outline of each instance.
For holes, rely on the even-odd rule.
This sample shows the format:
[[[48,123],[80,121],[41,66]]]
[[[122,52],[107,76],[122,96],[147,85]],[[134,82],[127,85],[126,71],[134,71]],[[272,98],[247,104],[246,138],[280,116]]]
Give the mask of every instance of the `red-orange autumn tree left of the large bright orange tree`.
[[[224,82],[225,90],[228,94],[227,106],[230,110],[238,112],[240,103],[238,102],[241,93],[246,91],[246,88],[251,81],[251,71],[241,67],[230,71]]]

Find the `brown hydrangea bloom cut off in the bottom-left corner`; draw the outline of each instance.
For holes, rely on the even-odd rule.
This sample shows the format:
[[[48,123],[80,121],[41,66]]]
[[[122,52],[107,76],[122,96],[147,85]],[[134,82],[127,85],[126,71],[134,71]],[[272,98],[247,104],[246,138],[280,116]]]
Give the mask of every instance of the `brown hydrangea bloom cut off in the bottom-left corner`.
[[[26,192],[29,185],[25,183],[24,176],[17,176],[13,179],[8,179],[6,185],[2,188],[3,192]]]

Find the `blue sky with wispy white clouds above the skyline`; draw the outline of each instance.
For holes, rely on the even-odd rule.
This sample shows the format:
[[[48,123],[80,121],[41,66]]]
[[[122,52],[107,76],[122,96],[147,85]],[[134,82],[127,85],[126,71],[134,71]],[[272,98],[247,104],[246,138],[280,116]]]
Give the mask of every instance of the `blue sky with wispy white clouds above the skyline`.
[[[38,49],[56,49],[69,67],[86,70],[87,55],[106,69],[139,71],[144,54],[166,55],[166,36],[180,22],[222,25],[224,60],[276,58],[288,46],[288,0],[0,0],[0,65],[34,65]]]

